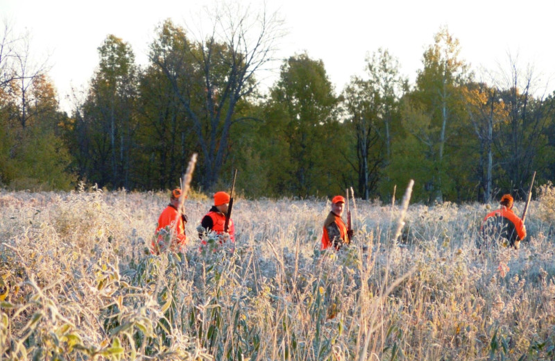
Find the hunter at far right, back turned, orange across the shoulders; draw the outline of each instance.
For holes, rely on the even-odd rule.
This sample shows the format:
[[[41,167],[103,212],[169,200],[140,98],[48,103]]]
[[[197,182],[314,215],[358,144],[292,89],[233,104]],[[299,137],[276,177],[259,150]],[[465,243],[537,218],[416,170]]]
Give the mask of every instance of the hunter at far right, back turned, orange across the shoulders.
[[[522,219],[513,212],[513,197],[511,194],[505,194],[499,203],[501,208],[484,217],[481,226],[482,236],[489,240],[502,238],[509,242],[509,246],[519,249],[520,241],[526,237],[526,227]]]

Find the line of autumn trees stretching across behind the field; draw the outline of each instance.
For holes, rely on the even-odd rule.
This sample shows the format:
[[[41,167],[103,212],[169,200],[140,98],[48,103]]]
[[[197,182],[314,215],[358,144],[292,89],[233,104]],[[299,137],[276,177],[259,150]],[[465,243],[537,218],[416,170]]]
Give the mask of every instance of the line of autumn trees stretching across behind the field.
[[[223,16],[227,15],[227,16]],[[198,153],[194,187],[226,189],[240,169],[245,196],[329,196],[354,187],[391,201],[415,180],[413,199],[487,202],[524,196],[533,171],[555,176],[554,94],[514,58],[477,76],[442,27],[411,84],[386,49],[337,92],[322,60],[282,60],[267,91],[257,76],[273,60],[282,23],[264,12],[221,12],[194,36],[167,20],[148,64],[108,35],[71,115],[62,112],[26,37],[0,40],[0,185],[68,189],[175,187]]]

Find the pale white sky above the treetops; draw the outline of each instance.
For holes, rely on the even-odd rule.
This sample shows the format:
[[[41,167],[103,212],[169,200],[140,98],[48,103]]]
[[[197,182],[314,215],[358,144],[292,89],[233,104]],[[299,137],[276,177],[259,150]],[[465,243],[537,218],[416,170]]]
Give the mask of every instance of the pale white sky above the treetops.
[[[241,0],[246,1],[246,0]],[[85,87],[99,62],[97,48],[108,34],[128,42],[139,65],[146,64],[154,29],[171,17],[185,26],[200,6],[212,0],[0,0],[0,14],[18,32],[31,34],[37,59],[49,55],[49,75],[61,106],[71,86]],[[262,3],[262,1],[252,1]],[[547,91],[554,90],[553,0],[268,0],[286,22],[288,35],[278,56],[307,51],[321,59],[336,91],[352,75],[364,75],[367,53],[379,47],[398,58],[411,81],[422,53],[440,26],[447,25],[461,43],[461,57],[472,69],[507,68],[508,53],[522,68],[533,65]],[[277,72],[275,74],[277,78]],[[274,78],[274,79],[275,79]],[[549,79],[552,79],[548,83]],[[270,79],[269,83],[272,83]]]

